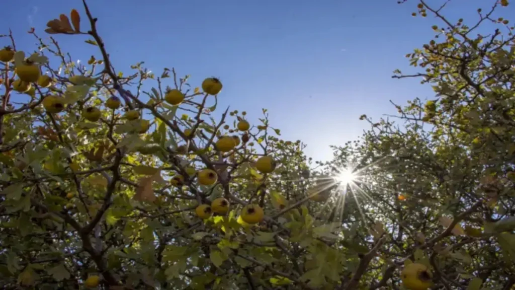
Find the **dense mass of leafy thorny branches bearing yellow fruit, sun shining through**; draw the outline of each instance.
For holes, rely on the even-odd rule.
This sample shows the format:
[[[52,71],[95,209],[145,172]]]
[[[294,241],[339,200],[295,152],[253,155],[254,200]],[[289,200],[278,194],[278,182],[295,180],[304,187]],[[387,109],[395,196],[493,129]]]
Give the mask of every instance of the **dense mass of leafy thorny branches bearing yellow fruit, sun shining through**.
[[[399,289],[409,287],[401,270],[423,265],[434,289],[510,289],[515,37],[492,18],[507,5],[466,26],[420,1],[418,13],[446,27],[407,55],[425,72],[394,77],[423,78],[435,98],[396,104],[402,127],[362,116],[371,130],[317,164],[300,141],[280,139],[266,109],[250,128],[237,110],[215,120],[218,79],[191,87],[187,75],[156,76],[142,63],[115,73],[85,2],[86,21],[72,10],[48,22],[50,43],[29,31],[40,45],[27,58],[9,34],[11,49],[0,52],[0,281]],[[483,22],[508,32],[473,38]],[[84,36],[99,56],[78,65],[57,39]]]

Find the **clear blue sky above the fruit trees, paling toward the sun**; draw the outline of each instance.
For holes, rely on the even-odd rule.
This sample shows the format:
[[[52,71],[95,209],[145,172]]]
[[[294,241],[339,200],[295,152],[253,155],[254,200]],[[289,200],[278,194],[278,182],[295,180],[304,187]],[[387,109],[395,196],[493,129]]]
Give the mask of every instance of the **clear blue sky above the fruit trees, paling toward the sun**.
[[[427,0],[435,7],[443,0]],[[89,0],[98,29],[117,71],[145,61],[160,73],[175,67],[200,85],[216,76],[224,83],[218,110],[246,110],[250,122],[268,108],[271,125],[283,138],[301,139],[315,159],[331,156],[329,145],[343,144],[362,134],[374,119],[396,110],[389,100],[404,104],[432,96],[420,80],[391,79],[394,69],[413,71],[404,57],[433,36],[441,22],[411,17],[416,2],[397,0]],[[452,0],[444,14],[456,22],[477,19],[476,8],[493,0]],[[513,3],[515,4],[515,3]],[[515,5],[496,17],[515,15]],[[18,49],[32,51],[34,39],[25,33],[77,8],[79,0],[7,1],[0,34],[10,27]],[[82,27],[86,23],[82,22]],[[487,31],[492,31],[487,30]],[[100,58],[85,36],[56,36],[75,59]],[[6,39],[0,39],[5,45]]]

